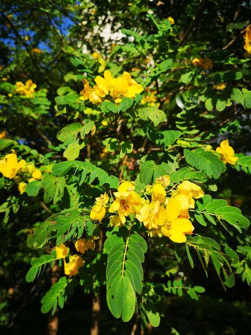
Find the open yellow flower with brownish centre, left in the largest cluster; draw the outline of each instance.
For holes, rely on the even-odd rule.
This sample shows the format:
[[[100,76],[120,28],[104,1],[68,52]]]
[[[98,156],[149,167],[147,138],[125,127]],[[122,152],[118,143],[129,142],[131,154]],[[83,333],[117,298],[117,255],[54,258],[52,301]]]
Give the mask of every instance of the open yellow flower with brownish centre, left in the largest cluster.
[[[117,211],[120,221],[124,225],[126,216],[131,213],[136,213],[142,202],[140,196],[134,191],[135,186],[129,181],[123,181],[117,192],[113,192],[116,199],[112,202],[109,212]]]

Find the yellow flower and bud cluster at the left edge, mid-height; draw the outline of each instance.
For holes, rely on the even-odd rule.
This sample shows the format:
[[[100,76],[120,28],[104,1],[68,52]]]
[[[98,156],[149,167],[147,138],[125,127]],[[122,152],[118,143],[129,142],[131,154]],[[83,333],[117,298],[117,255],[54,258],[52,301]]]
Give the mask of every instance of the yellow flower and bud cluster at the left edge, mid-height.
[[[14,181],[18,184],[20,194],[25,192],[27,186],[27,183],[22,181],[22,178],[30,183],[31,181],[41,179],[42,176],[41,171],[33,163],[26,163],[24,159],[18,161],[15,152],[6,155],[0,160],[0,172],[9,179],[14,178]]]

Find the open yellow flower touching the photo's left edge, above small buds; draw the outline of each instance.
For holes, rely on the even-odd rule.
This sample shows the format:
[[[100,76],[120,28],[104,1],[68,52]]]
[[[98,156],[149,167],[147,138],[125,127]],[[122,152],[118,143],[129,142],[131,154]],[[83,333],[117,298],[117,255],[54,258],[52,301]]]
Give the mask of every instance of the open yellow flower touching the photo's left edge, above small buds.
[[[18,162],[18,157],[15,153],[8,154],[4,159],[0,160],[0,172],[5,177],[12,179],[25,164],[26,161],[24,159]]]

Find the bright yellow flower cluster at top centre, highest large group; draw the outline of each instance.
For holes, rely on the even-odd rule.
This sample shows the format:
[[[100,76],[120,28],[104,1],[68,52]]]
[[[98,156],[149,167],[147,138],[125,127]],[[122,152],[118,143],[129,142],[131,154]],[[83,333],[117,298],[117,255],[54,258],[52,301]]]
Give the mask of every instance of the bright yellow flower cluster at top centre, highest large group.
[[[89,100],[92,103],[99,104],[110,95],[115,103],[119,103],[122,97],[133,98],[136,94],[143,91],[141,84],[132,79],[130,73],[124,71],[117,78],[113,78],[109,70],[104,71],[104,77],[96,76],[94,79],[96,85],[90,87],[88,80],[83,79],[84,89],[80,91],[81,100]]]

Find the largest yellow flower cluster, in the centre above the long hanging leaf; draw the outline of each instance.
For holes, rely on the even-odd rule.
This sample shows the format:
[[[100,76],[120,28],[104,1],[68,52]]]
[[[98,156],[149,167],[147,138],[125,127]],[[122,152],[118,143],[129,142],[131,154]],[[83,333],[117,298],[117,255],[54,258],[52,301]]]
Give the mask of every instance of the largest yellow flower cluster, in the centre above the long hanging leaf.
[[[171,191],[171,196],[167,197],[166,187],[169,186],[170,177],[165,175],[157,178],[154,185],[146,187],[146,192],[151,194],[151,202],[148,198],[142,198],[135,191],[135,183],[122,181],[117,192],[113,192],[115,199],[111,203],[108,211],[114,213],[110,216],[110,225],[121,227],[126,224],[127,217],[135,217],[143,222],[149,230],[150,236],[166,236],[173,242],[182,243],[186,241],[186,235],[192,234],[194,227],[189,220],[189,208],[194,208],[195,200],[204,195],[200,186],[184,181]],[[91,218],[99,222],[106,213],[108,196],[101,195],[95,206],[91,210]],[[99,198],[96,198],[99,199]]]

